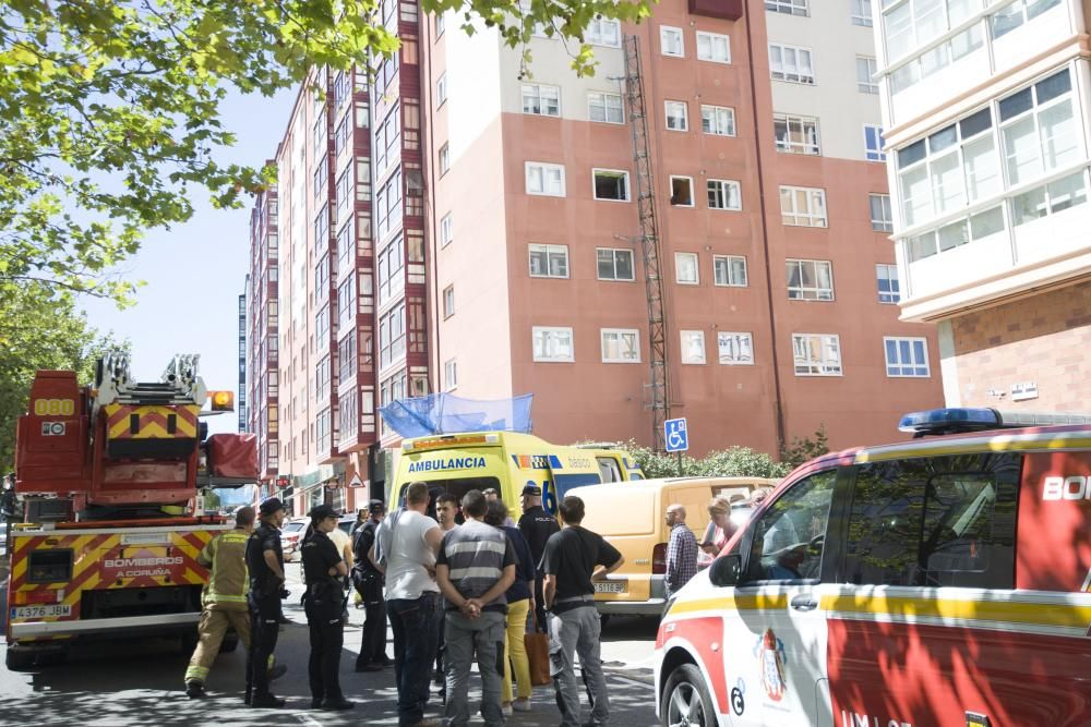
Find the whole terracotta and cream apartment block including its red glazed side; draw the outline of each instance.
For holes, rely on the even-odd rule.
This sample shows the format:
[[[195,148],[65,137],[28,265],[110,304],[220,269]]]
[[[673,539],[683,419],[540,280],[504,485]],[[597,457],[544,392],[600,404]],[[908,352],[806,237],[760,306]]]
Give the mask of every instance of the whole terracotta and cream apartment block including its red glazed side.
[[[383,3],[398,54],[370,87],[316,74],[277,152],[266,494],[290,486],[297,511],[380,495],[398,436],[377,408],[430,391],[530,392],[548,439],[651,444],[642,194],[695,453],[819,426],[874,443],[938,405],[933,327],[899,320],[870,10],[667,0],[638,26],[595,21],[577,77],[544,33],[524,68],[492,28]]]

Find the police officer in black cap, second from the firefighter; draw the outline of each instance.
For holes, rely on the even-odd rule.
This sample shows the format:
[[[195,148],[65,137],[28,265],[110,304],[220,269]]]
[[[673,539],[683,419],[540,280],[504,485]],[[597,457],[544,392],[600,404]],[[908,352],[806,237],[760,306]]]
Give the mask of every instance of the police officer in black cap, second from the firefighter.
[[[348,574],[348,568],[329,540],[329,533],[336,530],[339,517],[328,505],[312,509],[311,533],[299,550],[307,581],[303,607],[311,635],[307,670],[311,680],[312,710],[351,710],[356,706],[345,699],[337,678],[345,640],[341,579]]]

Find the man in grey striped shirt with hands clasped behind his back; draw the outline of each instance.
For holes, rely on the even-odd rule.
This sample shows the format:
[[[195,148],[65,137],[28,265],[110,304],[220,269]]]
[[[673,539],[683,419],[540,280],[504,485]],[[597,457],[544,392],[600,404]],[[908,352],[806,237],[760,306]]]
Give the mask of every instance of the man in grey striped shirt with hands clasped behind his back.
[[[500,689],[504,674],[504,592],[515,581],[516,555],[504,531],[484,523],[488,501],[480,490],[463,497],[466,522],[443,536],[435,559],[435,582],[446,599],[447,724],[469,723],[470,662],[477,652],[481,673],[481,715],[489,727],[504,724]]]

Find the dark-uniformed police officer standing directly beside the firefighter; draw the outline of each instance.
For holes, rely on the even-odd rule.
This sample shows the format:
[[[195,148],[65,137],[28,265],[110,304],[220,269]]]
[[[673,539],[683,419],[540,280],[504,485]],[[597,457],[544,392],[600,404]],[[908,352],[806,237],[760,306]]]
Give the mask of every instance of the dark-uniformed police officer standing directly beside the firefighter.
[[[285,508],[276,497],[261,505],[261,525],[247,541],[247,568],[250,570],[250,649],[247,652],[247,704],[256,707],[283,707],[284,700],[269,692],[268,664],[280,630],[280,599],[284,587],[284,553],[280,550],[280,525]]]

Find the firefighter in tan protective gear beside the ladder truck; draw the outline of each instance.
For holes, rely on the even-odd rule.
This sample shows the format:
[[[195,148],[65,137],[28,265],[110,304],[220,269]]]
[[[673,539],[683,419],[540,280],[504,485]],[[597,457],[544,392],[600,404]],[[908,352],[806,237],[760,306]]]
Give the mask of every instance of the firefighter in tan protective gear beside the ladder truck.
[[[240,508],[235,514],[235,529],[217,535],[197,555],[197,562],[209,569],[208,583],[201,594],[204,610],[197,625],[196,649],[185,669],[185,693],[190,698],[204,696],[204,682],[216,659],[228,628],[235,629],[243,646],[250,647],[250,611],[247,594],[250,579],[247,572],[247,541],[254,530],[254,509]],[[275,679],[287,670],[284,666],[271,669]]]

